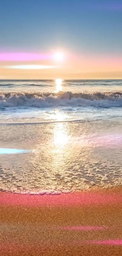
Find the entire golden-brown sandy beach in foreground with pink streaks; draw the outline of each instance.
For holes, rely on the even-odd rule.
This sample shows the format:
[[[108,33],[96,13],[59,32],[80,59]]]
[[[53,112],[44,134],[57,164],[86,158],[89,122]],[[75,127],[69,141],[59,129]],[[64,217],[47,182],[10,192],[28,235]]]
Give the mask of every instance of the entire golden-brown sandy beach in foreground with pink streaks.
[[[0,193],[0,255],[122,255],[122,187],[57,196]]]

